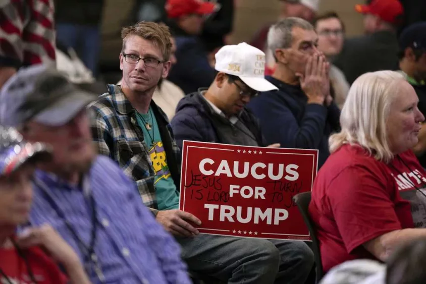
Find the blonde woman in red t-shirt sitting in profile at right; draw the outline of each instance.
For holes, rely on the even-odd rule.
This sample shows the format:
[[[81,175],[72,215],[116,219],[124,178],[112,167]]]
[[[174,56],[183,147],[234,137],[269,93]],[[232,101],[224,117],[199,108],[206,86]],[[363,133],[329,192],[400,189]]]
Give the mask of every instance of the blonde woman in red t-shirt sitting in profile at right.
[[[351,86],[309,205],[325,271],[352,259],[385,261],[398,245],[426,237],[426,172],[411,151],[424,121],[417,103],[393,71],[363,74]]]

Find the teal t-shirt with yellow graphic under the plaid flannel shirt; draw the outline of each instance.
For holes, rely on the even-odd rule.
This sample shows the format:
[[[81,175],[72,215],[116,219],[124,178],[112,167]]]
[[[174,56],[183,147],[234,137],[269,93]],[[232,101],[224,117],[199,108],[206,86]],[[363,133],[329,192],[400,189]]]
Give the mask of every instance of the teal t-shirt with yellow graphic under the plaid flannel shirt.
[[[166,151],[161,141],[158,124],[149,107],[148,113],[136,112],[136,119],[143,131],[145,144],[149,149],[149,157],[155,172],[154,187],[157,196],[158,210],[179,208],[179,196],[167,165]],[[147,129],[150,128],[150,129]]]

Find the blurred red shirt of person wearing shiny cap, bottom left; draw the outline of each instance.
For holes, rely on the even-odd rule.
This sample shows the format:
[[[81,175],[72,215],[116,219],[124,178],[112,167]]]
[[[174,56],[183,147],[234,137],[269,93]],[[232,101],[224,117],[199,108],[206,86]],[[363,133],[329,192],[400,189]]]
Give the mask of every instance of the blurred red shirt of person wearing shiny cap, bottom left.
[[[40,248],[33,247],[24,250],[37,284],[67,283],[67,278]],[[12,283],[32,284],[25,261],[19,256],[15,248],[0,248],[0,268],[9,277]],[[8,283],[0,275],[1,283]]]

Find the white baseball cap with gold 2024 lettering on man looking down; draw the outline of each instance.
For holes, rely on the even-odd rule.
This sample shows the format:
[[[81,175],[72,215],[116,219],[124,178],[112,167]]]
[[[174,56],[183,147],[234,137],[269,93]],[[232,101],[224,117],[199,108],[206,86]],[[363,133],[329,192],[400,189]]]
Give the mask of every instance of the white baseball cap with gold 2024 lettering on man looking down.
[[[215,69],[238,76],[247,86],[258,92],[278,90],[265,79],[265,53],[245,42],[225,45],[215,55]]]

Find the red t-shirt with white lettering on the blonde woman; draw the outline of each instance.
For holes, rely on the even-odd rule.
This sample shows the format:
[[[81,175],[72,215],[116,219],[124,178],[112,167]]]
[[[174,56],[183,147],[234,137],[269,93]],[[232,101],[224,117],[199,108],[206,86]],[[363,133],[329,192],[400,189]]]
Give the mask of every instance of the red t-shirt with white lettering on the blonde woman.
[[[389,164],[359,146],[344,145],[331,154],[309,204],[324,270],[347,260],[375,259],[361,245],[385,233],[413,228],[414,222],[426,228],[426,197],[414,187],[421,190],[425,177],[411,150]]]

